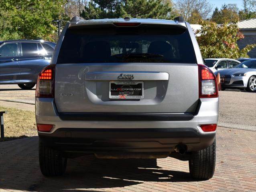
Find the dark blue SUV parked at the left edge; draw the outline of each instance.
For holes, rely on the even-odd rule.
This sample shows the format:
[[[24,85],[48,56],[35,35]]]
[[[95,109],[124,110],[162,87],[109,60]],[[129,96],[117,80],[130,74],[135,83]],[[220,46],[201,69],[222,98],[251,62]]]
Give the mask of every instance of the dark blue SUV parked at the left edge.
[[[33,88],[41,70],[49,65],[55,45],[43,40],[0,42],[0,84]]]

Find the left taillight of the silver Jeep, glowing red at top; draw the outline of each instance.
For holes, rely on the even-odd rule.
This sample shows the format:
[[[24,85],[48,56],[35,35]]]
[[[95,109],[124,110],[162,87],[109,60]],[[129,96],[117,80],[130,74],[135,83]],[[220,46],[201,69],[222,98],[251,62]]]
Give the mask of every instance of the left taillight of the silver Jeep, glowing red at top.
[[[36,97],[54,98],[55,65],[45,67],[37,78]]]

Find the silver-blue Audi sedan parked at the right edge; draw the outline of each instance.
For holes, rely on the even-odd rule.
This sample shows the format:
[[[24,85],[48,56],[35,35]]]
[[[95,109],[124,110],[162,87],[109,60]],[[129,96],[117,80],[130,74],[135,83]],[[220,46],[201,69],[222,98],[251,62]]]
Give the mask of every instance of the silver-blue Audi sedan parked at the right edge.
[[[232,69],[216,71],[220,75],[222,90],[226,88],[256,91],[256,59],[244,61]]]

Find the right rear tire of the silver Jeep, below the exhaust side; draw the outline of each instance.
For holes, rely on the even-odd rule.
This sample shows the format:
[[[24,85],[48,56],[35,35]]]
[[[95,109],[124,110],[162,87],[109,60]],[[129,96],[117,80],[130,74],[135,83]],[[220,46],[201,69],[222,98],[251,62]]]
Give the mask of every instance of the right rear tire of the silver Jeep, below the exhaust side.
[[[189,173],[197,180],[208,180],[212,178],[215,170],[216,139],[211,146],[192,152],[189,160]]]

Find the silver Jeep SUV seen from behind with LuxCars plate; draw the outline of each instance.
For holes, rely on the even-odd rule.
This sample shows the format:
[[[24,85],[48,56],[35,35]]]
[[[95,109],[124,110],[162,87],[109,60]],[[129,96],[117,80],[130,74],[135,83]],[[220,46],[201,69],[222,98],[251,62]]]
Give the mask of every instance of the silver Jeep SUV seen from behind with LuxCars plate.
[[[38,77],[41,172],[61,175],[67,158],[94,154],[188,160],[193,178],[211,178],[219,98],[203,63],[182,17],[72,18]]]

